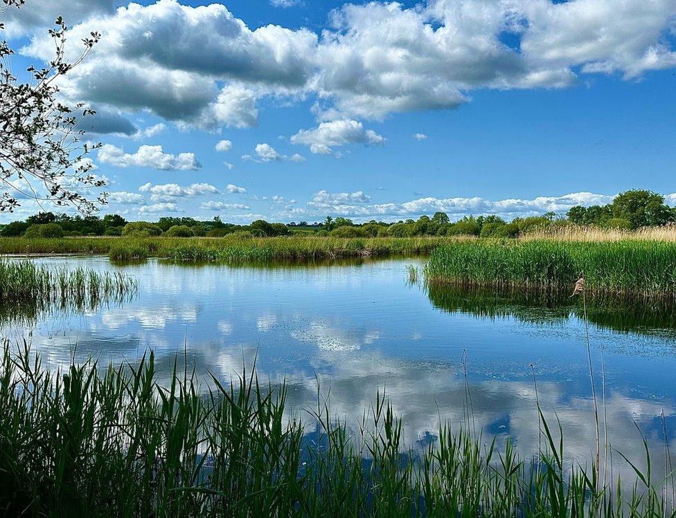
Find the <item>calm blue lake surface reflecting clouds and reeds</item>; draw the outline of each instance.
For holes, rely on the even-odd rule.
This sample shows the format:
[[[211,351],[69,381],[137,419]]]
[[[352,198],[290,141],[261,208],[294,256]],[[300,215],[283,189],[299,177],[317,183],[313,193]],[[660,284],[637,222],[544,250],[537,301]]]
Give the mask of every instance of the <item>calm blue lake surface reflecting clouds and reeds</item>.
[[[440,418],[460,427],[470,406],[477,433],[510,436],[526,455],[538,447],[534,371],[544,413],[551,425],[558,416],[564,427],[567,454],[591,459],[594,411],[585,322],[576,299],[427,290],[409,282],[406,266],[422,264],[411,259],[275,267],[34,260],[123,270],[139,281],[134,299],[96,311],[55,312],[30,324],[0,318],[3,335],[30,335],[51,364],[69,362],[73,351],[78,360],[134,362],[152,347],[161,376],[168,376],[175,354],[185,350],[198,376],[211,372],[229,380],[256,358],[261,379],[286,379],[293,405],[316,402],[319,380],[324,394],[330,389],[332,410],[350,420],[362,416],[384,389],[411,444],[433,441]],[[670,306],[645,302],[590,301],[589,307],[601,412],[602,351],[605,360],[609,441],[640,465],[640,429],[655,452],[658,473],[664,424],[676,446],[673,315]],[[623,470],[618,459],[614,463]]]

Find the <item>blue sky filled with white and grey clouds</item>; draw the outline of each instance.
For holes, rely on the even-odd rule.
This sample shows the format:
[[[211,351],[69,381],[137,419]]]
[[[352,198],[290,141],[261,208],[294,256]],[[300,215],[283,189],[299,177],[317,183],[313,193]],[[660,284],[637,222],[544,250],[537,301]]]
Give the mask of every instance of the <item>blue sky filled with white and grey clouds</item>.
[[[676,0],[26,0],[16,69],[97,114],[102,214],[248,223],[676,205]],[[44,205],[46,210],[53,207]],[[0,222],[39,210],[24,200]]]

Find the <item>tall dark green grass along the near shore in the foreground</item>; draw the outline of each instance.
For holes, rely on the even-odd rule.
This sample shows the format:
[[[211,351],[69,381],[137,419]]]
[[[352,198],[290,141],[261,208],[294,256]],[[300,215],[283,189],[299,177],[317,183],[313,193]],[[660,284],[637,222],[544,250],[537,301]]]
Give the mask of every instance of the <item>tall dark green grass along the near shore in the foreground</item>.
[[[175,360],[43,367],[26,344],[0,362],[0,510],[60,516],[661,516],[669,477],[616,479],[566,461],[542,412],[542,452],[441,425],[413,450],[382,394],[350,429],[330,403],[285,411],[285,385],[244,371],[206,396]],[[201,395],[202,394],[202,395]],[[556,439],[561,434],[560,441]],[[647,451],[647,450],[646,450]],[[650,465],[648,459],[648,465]],[[612,490],[612,497],[611,495]]]

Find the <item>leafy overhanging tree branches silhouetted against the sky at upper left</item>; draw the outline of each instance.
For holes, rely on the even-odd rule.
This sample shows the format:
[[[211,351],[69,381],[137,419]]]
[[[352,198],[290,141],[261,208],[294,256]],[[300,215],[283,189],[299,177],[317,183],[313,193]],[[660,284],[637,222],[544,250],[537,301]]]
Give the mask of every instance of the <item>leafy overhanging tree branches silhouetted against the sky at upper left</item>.
[[[24,3],[0,1],[4,9]],[[85,133],[80,129],[82,122],[94,111],[82,102],[74,107],[63,104],[57,86],[60,77],[82,62],[100,35],[90,33],[82,40],[80,57],[68,62],[64,52],[68,29],[61,17],[55,24],[49,30],[55,57],[42,68],[28,67],[33,77],[30,83],[21,83],[12,75],[14,51],[7,41],[0,41],[0,185],[7,189],[0,193],[0,212],[12,212],[21,205],[19,198],[71,205],[85,214],[106,203],[105,192],[95,201],[89,196],[91,188],[105,185],[91,174],[94,164],[87,158],[99,145],[80,142]]]

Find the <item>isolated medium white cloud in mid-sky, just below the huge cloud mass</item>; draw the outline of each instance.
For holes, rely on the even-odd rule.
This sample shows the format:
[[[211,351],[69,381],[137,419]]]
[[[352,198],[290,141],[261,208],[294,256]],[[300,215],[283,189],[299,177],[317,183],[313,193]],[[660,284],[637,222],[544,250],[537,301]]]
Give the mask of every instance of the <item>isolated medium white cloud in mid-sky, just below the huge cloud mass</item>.
[[[357,120],[343,119],[321,122],[314,129],[301,129],[291,137],[291,142],[310,147],[314,154],[329,154],[332,147],[346,144],[383,145],[385,139],[373,129],[364,129],[364,125]]]

